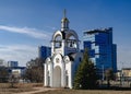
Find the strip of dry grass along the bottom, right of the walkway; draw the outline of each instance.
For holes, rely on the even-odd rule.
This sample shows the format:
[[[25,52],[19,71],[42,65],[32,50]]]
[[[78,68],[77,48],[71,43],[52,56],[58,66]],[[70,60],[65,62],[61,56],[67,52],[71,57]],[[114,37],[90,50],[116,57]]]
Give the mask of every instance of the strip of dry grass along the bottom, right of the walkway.
[[[103,90],[55,90],[35,94],[131,94],[131,91],[103,91]]]

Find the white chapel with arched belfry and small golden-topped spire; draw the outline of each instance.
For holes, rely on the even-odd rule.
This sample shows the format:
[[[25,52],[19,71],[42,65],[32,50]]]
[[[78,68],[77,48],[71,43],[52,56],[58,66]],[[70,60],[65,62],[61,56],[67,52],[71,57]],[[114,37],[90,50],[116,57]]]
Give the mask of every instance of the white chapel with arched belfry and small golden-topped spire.
[[[78,34],[69,28],[64,10],[61,30],[52,35],[51,56],[44,63],[45,86],[72,89],[74,74],[83,57],[79,44]]]

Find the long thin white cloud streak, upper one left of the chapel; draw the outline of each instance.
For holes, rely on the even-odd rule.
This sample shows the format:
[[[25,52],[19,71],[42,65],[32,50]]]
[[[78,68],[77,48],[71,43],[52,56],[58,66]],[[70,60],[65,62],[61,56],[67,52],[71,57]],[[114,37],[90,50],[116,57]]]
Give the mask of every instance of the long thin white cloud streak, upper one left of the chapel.
[[[28,27],[0,25],[0,30],[11,32],[11,33],[25,34],[38,39],[49,39],[49,36],[50,36],[50,33],[48,32],[39,31],[36,28],[28,28]]]

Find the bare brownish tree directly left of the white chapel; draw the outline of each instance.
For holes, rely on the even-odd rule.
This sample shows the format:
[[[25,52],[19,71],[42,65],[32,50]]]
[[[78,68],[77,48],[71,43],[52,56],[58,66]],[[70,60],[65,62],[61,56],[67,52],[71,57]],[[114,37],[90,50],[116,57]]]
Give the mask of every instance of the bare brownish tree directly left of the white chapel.
[[[31,82],[43,82],[44,81],[44,67],[45,59],[36,58],[26,63],[27,69],[25,71],[25,79]]]

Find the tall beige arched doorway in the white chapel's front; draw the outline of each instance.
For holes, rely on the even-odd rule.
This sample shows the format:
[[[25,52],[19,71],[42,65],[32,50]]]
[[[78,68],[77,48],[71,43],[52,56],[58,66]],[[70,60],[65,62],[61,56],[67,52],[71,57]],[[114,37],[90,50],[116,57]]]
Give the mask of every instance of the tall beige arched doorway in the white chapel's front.
[[[52,86],[53,87],[61,87],[61,69],[58,66],[53,69]]]

